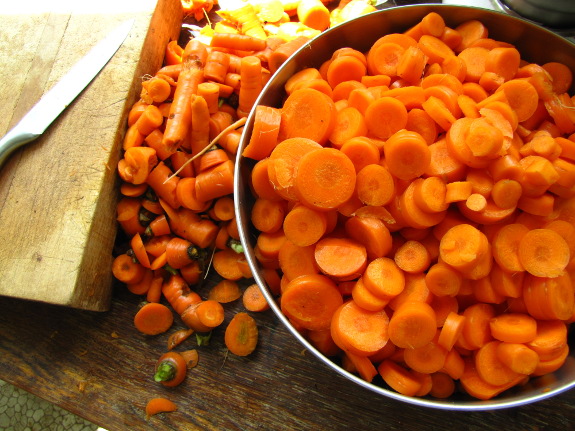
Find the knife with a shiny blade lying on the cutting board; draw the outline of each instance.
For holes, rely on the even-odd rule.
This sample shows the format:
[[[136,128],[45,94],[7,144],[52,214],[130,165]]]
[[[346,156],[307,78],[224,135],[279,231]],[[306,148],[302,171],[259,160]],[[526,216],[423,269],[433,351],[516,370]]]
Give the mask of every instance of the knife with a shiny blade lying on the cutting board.
[[[122,45],[134,19],[120,24],[78,61],[34,107],[0,139],[0,168],[18,147],[38,138],[96,77]]]

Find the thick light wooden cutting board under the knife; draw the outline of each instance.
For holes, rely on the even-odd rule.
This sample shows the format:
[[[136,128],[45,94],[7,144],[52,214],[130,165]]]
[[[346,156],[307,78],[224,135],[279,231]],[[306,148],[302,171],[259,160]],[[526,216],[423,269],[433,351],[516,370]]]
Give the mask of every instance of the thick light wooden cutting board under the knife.
[[[1,135],[130,18],[128,38],[96,79],[0,170],[0,296],[109,308],[127,112],[182,22],[180,0],[0,3]]]

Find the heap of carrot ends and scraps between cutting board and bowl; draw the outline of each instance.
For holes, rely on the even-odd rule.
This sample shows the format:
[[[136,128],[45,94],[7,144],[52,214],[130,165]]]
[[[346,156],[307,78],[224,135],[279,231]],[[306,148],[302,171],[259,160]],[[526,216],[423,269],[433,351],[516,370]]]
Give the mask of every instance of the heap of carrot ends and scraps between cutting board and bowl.
[[[184,13],[196,21],[215,3],[182,0]],[[186,326],[169,335],[156,364],[154,380],[167,387],[181,384],[198,363],[198,351],[182,347],[184,342],[195,334],[198,346],[209,343],[225,323],[227,303],[240,300],[243,306],[225,323],[228,351],[246,356],[257,346],[251,313],[269,305],[251,279],[239,241],[235,156],[245,120],[271,74],[324,29],[318,22],[331,20],[327,1],[240,1],[228,2],[227,9],[223,3],[218,22],[208,22],[184,47],[170,41],[164,66],[142,81],[117,167],[117,220],[127,245],[112,272],[145,299],[133,324],[158,336],[172,328],[175,313]],[[342,0],[338,8],[339,22],[373,10],[366,0]],[[275,271],[266,279],[279,286]],[[175,409],[172,401],[154,398],[146,415]]]

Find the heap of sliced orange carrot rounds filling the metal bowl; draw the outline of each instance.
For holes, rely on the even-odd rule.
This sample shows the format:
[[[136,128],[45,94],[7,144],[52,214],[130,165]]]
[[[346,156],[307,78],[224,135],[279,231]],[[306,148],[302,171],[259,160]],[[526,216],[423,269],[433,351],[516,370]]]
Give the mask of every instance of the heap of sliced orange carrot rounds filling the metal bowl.
[[[565,65],[437,13],[295,73],[243,150],[255,256],[293,326],[408,396],[486,400],[559,369],[575,320],[571,84]]]

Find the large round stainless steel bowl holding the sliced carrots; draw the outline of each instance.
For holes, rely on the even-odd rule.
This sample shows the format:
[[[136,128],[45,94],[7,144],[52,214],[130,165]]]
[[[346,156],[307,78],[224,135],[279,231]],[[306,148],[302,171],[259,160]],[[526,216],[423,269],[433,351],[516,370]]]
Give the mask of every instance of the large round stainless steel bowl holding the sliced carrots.
[[[313,39],[282,65],[263,89],[256,104],[280,107],[285,96],[284,84],[296,71],[305,67],[319,67],[323,61],[331,57],[334,50],[344,46],[351,46],[361,51],[366,51],[379,37],[387,33],[404,31],[431,11],[440,13],[451,27],[470,19],[481,20],[489,28],[490,37],[515,44],[522,53],[523,58],[539,64],[548,61],[560,61],[575,70],[575,45],[528,21],[499,12],[471,7],[448,5],[402,6],[373,12],[343,23]],[[532,379],[527,385],[511,389],[488,401],[476,400],[463,395],[454,395],[447,400],[407,397],[362,380],[343,370],[338,364],[316,350],[282,314],[276,298],[267,288],[258,262],[253,254],[256,235],[250,223],[250,208],[253,203],[253,197],[250,194],[249,175],[254,163],[250,159],[241,157],[242,149],[245,148],[249,141],[253,122],[254,112],[252,111],[242,135],[236,161],[234,198],[239,233],[254,278],[262,287],[272,310],[289,332],[311,351],[317,359],[327,364],[335,372],[377,394],[409,404],[445,410],[492,410],[520,406],[552,397],[575,386],[575,344],[573,344],[575,341],[573,340],[571,341],[571,345],[574,347],[571,349],[572,353],[567,358],[565,365],[552,376],[546,376],[544,379]]]

